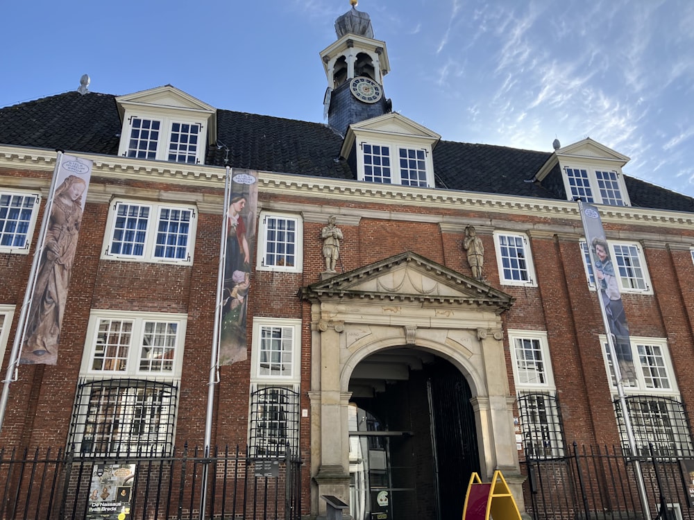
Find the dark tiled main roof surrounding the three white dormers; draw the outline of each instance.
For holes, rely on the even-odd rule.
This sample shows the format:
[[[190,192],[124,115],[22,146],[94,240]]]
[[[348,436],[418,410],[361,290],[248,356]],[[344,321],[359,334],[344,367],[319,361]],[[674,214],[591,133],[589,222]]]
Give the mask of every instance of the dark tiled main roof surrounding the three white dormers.
[[[121,121],[115,96],[66,92],[0,108],[0,144],[117,155]],[[328,125],[217,110],[218,146],[205,163],[233,168],[353,179],[339,159],[342,137]],[[227,153],[228,148],[228,153]],[[437,187],[564,200],[563,187],[548,176],[528,182],[549,152],[440,141],[434,148]],[[556,176],[555,176],[556,177]],[[694,211],[694,199],[626,177],[632,205]]]

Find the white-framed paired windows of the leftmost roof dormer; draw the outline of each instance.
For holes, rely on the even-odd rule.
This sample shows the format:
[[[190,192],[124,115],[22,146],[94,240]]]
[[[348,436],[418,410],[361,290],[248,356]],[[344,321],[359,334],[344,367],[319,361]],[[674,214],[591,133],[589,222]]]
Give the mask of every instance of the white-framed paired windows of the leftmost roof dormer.
[[[121,144],[121,153],[126,157],[189,164],[204,159],[205,136],[201,123],[131,116],[126,125],[128,139]]]

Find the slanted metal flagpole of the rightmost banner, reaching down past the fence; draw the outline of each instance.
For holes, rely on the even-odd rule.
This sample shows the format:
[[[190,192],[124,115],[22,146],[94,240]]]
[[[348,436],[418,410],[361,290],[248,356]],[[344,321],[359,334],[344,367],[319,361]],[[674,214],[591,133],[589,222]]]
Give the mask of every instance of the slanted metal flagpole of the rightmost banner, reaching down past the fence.
[[[581,214],[581,219],[584,225],[584,232],[586,234],[586,241],[589,237],[589,229],[586,228],[586,220],[584,218],[584,204],[582,200],[578,200],[578,209]],[[602,226],[602,223],[601,223]],[[593,260],[593,255],[590,252],[590,243],[586,244],[589,250],[589,261],[591,262],[591,268],[593,268],[593,276],[595,276],[595,293],[598,295],[598,306],[600,307],[600,314],[602,315],[602,325],[607,334],[607,348],[609,351],[610,359],[612,360],[612,370],[614,370],[614,377],[617,381],[617,396],[619,398],[619,406],[622,409],[622,417],[624,420],[624,429],[627,433],[627,444],[629,445],[629,451],[634,457],[634,472],[636,473],[636,486],[638,487],[638,496],[641,499],[641,509],[643,510],[644,520],[651,520],[650,505],[648,504],[648,494],[646,494],[645,483],[643,482],[643,473],[641,472],[641,462],[638,460],[638,451],[636,450],[636,437],[634,437],[634,428],[632,427],[632,417],[629,414],[629,408],[627,408],[627,399],[624,392],[624,383],[622,382],[622,370],[620,369],[617,360],[617,351],[614,347],[614,338],[612,336],[609,319],[607,318],[607,311],[602,304],[602,295],[600,295],[600,287],[598,286],[598,277],[595,275],[595,261]],[[601,345],[602,348],[602,345]]]

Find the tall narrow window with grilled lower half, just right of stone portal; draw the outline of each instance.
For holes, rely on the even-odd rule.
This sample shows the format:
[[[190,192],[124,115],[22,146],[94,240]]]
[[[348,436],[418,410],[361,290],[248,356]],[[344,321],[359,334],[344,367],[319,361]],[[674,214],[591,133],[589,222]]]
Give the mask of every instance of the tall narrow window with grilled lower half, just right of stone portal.
[[[563,456],[564,435],[547,334],[544,331],[509,330],[509,345],[525,456]]]

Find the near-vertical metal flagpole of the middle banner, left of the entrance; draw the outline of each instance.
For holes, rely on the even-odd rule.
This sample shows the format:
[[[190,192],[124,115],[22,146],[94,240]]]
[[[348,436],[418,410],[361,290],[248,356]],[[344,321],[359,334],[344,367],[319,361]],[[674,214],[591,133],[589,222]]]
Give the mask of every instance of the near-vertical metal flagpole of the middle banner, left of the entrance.
[[[219,333],[221,328],[221,309],[224,291],[224,263],[226,260],[227,212],[231,190],[231,167],[226,166],[224,176],[224,205],[222,211],[221,241],[219,243],[219,266],[217,268],[217,304],[214,306],[214,330],[212,331],[212,353],[210,355],[210,381],[208,382],[208,411],[205,416],[205,458],[210,456],[212,444],[212,415],[214,414],[214,387],[219,383]],[[208,464],[203,465],[202,489],[200,493],[200,518],[205,520],[207,503]]]

